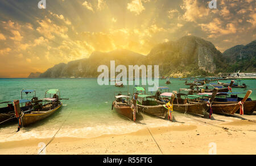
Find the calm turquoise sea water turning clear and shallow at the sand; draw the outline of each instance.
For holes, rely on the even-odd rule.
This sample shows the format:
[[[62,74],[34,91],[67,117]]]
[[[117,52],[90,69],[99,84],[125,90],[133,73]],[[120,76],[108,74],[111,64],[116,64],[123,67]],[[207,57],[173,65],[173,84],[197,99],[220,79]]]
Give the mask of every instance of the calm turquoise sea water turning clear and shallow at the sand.
[[[170,79],[172,84],[166,85],[166,80],[159,80],[159,86],[168,86],[171,91],[186,88],[184,80]],[[222,80],[230,82],[230,80]],[[216,82],[217,83],[217,82]],[[253,89],[251,98],[256,100],[255,80],[242,80],[242,83]],[[129,86],[129,92],[133,93],[133,87]],[[76,79],[0,79],[0,103],[20,99],[22,89],[36,90],[39,99],[44,97],[48,89],[57,88],[61,92],[63,107],[51,117],[29,127],[23,127],[16,133],[17,124],[9,123],[0,126],[0,142],[28,138],[51,138],[59,127],[61,130],[56,137],[81,137],[91,138],[104,134],[122,134],[137,131],[145,127],[180,125],[164,121],[159,118],[144,116],[139,123],[134,123],[119,116],[111,110],[114,92],[127,91],[127,86],[118,88],[114,86],[98,86],[96,78]],[[147,88],[146,88],[147,90]],[[233,88],[233,92],[246,93],[241,88]],[[125,94],[126,95],[126,94]],[[27,98],[23,95],[23,98]],[[242,94],[241,96],[244,96]],[[28,94],[28,99],[32,95]],[[1,104],[0,107],[5,105]],[[183,116],[178,114],[177,116]]]

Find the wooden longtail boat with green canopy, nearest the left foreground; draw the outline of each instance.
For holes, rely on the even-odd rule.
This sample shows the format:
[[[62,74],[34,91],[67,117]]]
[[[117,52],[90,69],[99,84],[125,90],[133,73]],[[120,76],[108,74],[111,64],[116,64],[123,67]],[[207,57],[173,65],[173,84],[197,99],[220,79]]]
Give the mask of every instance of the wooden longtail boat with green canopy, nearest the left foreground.
[[[47,95],[49,95],[49,97],[47,97]],[[60,99],[60,91],[57,89],[52,89],[46,91],[45,98],[40,100],[40,103],[34,105],[30,110],[23,112],[14,107],[15,114],[18,115],[19,118],[20,127],[34,124],[35,122],[43,120],[44,118],[47,118],[51,116],[51,114],[57,112],[57,110],[59,110],[59,108],[62,106],[60,100],[68,99]],[[14,101],[14,104],[17,103],[17,101]]]

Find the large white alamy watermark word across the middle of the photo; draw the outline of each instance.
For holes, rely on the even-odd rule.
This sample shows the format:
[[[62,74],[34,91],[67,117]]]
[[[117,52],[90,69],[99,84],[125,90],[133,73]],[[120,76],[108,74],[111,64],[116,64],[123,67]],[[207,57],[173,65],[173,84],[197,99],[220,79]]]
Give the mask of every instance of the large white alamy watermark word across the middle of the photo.
[[[142,78],[143,86],[151,86],[148,87],[148,91],[156,91],[159,86],[159,66],[154,65],[154,76],[152,76],[152,65],[129,65],[128,66],[129,78],[127,79],[127,68],[125,65],[118,65],[115,67],[115,61],[110,61],[110,73],[109,67],[106,65],[98,66],[97,72],[102,72],[98,75],[97,82],[100,86],[109,85],[109,79],[114,78],[114,80],[121,80],[123,85],[133,85],[135,80],[135,85],[140,84],[140,77]],[[141,76],[140,76],[141,71]],[[119,72],[117,76],[115,76],[115,72]],[[110,75],[110,78],[109,78]],[[153,79],[154,78],[154,79]],[[110,85],[114,85],[115,82],[110,81]]]

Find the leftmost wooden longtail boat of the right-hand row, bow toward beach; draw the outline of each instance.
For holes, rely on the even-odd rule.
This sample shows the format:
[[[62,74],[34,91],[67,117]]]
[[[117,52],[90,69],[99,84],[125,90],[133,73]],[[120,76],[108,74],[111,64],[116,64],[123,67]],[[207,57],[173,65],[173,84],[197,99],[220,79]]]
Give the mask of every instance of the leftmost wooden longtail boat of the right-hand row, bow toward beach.
[[[136,121],[137,108],[130,103],[130,96],[122,95],[115,96],[115,100],[112,103],[112,110],[114,109],[117,113],[128,118],[131,121]]]

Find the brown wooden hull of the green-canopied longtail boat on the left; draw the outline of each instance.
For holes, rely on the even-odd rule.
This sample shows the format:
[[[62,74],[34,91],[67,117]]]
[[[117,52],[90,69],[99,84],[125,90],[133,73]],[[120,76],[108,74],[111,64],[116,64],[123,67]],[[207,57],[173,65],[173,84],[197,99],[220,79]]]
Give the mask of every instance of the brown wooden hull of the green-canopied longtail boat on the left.
[[[51,116],[51,114],[57,112],[57,110],[59,110],[61,106],[62,103],[60,103],[57,107],[42,113],[23,113],[21,117],[22,125],[28,126],[30,124],[34,124],[35,122],[43,120],[44,118],[47,118]]]

